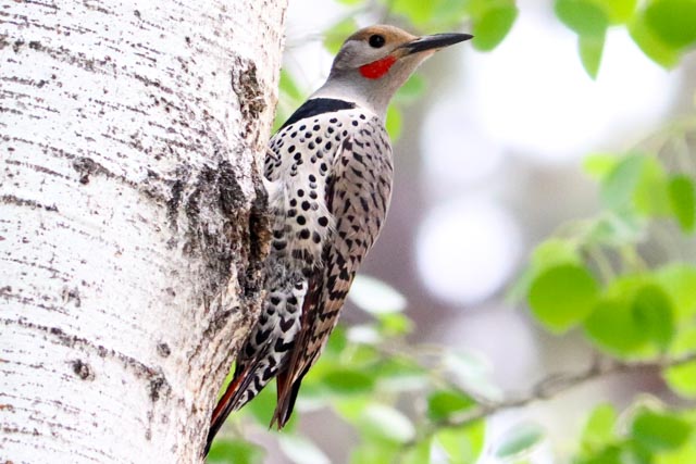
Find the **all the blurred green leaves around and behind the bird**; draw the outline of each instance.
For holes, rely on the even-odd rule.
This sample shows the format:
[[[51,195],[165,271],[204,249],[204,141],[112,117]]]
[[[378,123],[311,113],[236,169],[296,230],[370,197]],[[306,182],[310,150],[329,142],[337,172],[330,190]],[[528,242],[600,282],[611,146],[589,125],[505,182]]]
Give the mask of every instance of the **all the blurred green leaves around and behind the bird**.
[[[421,33],[471,30],[481,51],[500,43],[518,15],[513,0],[337,1],[350,13],[324,35],[331,53],[358,27],[356,14],[366,10]],[[636,45],[667,67],[696,43],[696,0],[556,0],[552,8],[577,34],[579,57],[592,77],[599,72],[609,27],[626,27]],[[403,109],[426,88],[425,79],[414,75],[398,92],[388,111],[393,136],[400,131]],[[306,97],[282,72],[276,124]],[[526,300],[546,330],[558,336],[581,331],[600,359],[614,360],[620,369],[660,369],[684,400],[696,398],[696,264],[682,260],[679,246],[693,239],[696,228],[696,162],[686,142],[695,133],[696,122],[678,122],[625,153],[589,155],[584,170],[598,184],[601,211],[561,226],[539,243],[511,291],[518,301]],[[663,250],[660,259],[644,255],[649,243]],[[539,388],[521,399],[500,400],[485,360],[409,343],[414,327],[402,312],[406,300],[378,280],[359,276],[350,298],[371,314],[371,322],[333,333],[303,381],[286,429],[266,428],[275,407],[270,386],[229,417],[209,462],[263,462],[264,449],[244,439],[256,430],[276,440],[295,463],[328,463],[321,444],[296,427],[304,412],[324,409],[351,430],[358,443],[350,451],[352,464],[474,463],[486,442],[486,416],[546,398]],[[576,379],[599,375],[591,369]],[[572,462],[696,462],[696,411],[679,404],[669,407],[641,397],[623,412],[597,405],[576,437]],[[521,424],[486,453],[499,462],[527,463],[545,436],[539,425]]]

